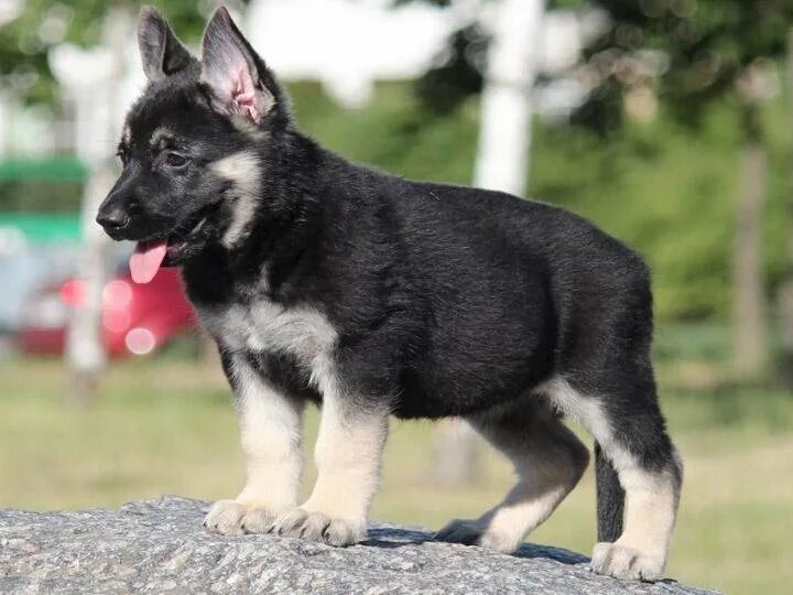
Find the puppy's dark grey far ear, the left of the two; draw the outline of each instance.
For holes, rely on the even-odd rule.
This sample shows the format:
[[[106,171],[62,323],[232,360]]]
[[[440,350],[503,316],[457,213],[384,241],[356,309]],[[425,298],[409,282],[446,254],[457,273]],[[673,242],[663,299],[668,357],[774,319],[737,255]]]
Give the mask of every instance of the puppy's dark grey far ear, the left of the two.
[[[165,18],[154,7],[141,9],[138,25],[143,72],[149,80],[160,80],[189,66],[195,58],[173,34]]]

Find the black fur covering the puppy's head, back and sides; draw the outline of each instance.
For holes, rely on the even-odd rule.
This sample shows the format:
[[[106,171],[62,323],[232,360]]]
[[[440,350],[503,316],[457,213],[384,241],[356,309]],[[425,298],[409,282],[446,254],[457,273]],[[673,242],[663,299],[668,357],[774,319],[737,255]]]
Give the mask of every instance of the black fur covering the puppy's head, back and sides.
[[[260,301],[321,313],[337,333],[336,374],[356,408],[388,402],[399,418],[471,418],[542,400],[532,394],[563,378],[582,400],[573,414],[597,408],[609,447],[648,474],[669,472],[678,488],[639,256],[554,206],[351,164],[297,130],[284,91],[225,12],[217,31],[210,24],[203,63],[155,17],[144,13],[141,26],[151,83],[129,113],[124,170],[98,217],[111,236],[167,238],[199,314]],[[207,75],[207,46],[224,43],[254,72],[248,111],[224,102]],[[239,154],[254,172],[213,172]],[[251,177],[254,195],[240,193]],[[236,218],[243,229],[226,241]],[[322,401],[295,354],[240,349],[215,334],[232,382],[232,358],[243,351],[285,393]],[[568,401],[546,398],[566,411]],[[599,502],[599,532],[613,541],[622,490],[606,455],[598,482],[610,499]]]

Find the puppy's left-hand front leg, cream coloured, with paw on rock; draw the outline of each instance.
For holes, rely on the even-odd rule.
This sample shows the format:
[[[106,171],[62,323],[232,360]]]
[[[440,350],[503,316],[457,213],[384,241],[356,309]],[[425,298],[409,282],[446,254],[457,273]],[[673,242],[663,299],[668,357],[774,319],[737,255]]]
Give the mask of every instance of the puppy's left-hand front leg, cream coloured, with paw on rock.
[[[303,467],[303,402],[284,394],[243,356],[225,358],[235,389],[247,483],[233,500],[215,502],[204,524],[226,534],[264,533],[297,504]]]

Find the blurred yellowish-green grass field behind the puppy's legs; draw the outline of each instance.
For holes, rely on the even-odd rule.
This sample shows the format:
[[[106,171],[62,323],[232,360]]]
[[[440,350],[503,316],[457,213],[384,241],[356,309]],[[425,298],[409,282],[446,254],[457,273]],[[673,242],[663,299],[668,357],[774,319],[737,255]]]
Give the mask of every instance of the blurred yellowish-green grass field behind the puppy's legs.
[[[115,364],[84,410],[64,403],[65,382],[59,361],[0,363],[1,507],[117,507],[163,493],[214,499],[241,486],[235,414],[216,367],[167,357]],[[669,574],[727,593],[786,593],[793,399],[781,390],[666,385],[663,407],[686,464]],[[311,410],[307,446],[316,418]],[[431,476],[432,424],[391,429],[376,519],[438,528],[478,515],[510,485],[508,465],[486,450],[479,485],[441,487]],[[306,484],[312,475],[309,464]],[[590,551],[590,473],[530,539]]]

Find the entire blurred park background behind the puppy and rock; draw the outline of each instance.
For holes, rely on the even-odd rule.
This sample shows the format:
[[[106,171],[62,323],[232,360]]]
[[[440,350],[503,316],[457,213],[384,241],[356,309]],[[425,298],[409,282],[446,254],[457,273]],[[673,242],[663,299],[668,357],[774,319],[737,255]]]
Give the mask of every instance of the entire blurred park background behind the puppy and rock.
[[[569,208],[647,257],[686,463],[669,573],[785,592],[793,0],[227,4],[326,147]],[[194,48],[216,6],[160,2]],[[132,284],[130,247],[93,225],[144,84],[138,10],[0,0],[0,506],[242,484],[229,390],[177,271]],[[460,423],[394,422],[373,517],[438,528],[495,504],[510,475]],[[589,552],[594,498],[588,475],[531,539]]]

